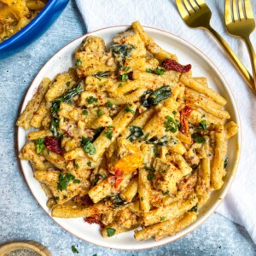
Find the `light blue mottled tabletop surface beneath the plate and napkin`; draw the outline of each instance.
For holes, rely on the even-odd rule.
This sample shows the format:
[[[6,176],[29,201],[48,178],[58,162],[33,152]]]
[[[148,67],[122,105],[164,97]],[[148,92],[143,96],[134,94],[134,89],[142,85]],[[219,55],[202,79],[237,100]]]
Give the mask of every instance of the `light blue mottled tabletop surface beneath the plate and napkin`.
[[[19,54],[0,61],[0,243],[34,240],[53,255],[163,256],[163,255],[256,255],[256,246],[241,226],[218,213],[200,228],[172,244],[138,252],[96,247],[62,230],[38,206],[22,177],[16,157],[15,120],[34,76],[45,61],[65,44],[86,32],[74,1],[67,5],[54,26]],[[246,210],[246,209],[245,209]]]

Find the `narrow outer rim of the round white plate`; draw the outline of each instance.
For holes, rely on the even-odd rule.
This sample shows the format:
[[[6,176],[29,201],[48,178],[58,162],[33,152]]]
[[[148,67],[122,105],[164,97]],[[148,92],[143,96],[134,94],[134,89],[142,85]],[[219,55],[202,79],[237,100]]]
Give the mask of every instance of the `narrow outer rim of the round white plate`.
[[[58,51],[55,52],[54,55],[52,55],[48,61],[46,61],[44,63],[44,66],[40,68],[40,70],[38,71],[38,73],[36,74],[36,76],[34,77],[34,79],[32,79],[32,82],[31,84],[28,86],[27,90],[26,90],[26,94],[25,96],[23,96],[23,99],[22,99],[22,104],[20,105],[20,112],[19,112],[19,116],[20,116],[20,113],[22,113],[22,111],[24,110],[24,108],[26,107],[26,96],[29,92],[29,90],[31,89],[31,86],[32,84],[34,83],[34,81],[38,78],[39,76],[39,73],[41,73],[41,71],[44,69],[44,67],[48,64],[49,61],[51,61],[53,58],[55,58],[55,55],[59,54],[59,52],[62,50],[62,49],[65,49],[67,47],[67,45],[69,44],[73,44],[74,41],[76,40],[79,40],[80,38],[84,38],[86,36],[89,36],[90,34],[92,33],[96,33],[96,32],[101,32],[101,31],[104,31],[104,30],[107,30],[108,29],[112,29],[112,28],[119,28],[119,27],[123,27],[124,29],[127,29],[128,27],[130,27],[131,25],[118,25],[118,26],[107,26],[107,27],[103,27],[103,28],[100,28],[100,29],[97,29],[95,31],[92,31],[92,32],[88,32],[88,33],[85,33],[84,35],[80,36],[79,38],[74,38],[72,41],[70,41],[69,43],[67,43],[66,45],[64,45],[63,47],[61,47],[61,49],[59,49]],[[224,78],[224,74],[220,71],[220,69],[218,68],[218,66],[204,53],[201,51],[201,49],[197,48],[194,44],[190,43],[189,41],[187,41],[186,39],[184,38],[181,38],[175,34],[173,34],[172,32],[166,32],[165,30],[162,30],[162,29],[159,29],[159,28],[155,28],[155,27],[152,27],[152,26],[143,26],[145,28],[148,28],[150,30],[153,30],[155,32],[160,32],[161,34],[167,34],[167,36],[171,36],[171,38],[174,38],[174,39],[177,39],[181,42],[183,42],[183,44],[187,47],[190,47],[192,49],[195,49],[195,52],[196,54],[199,54],[200,57],[204,60],[204,61],[207,61],[209,64],[211,64],[211,67],[214,69],[214,71],[216,73],[218,73],[218,78],[222,80],[223,84],[225,84],[225,89],[229,92],[230,94],[230,100],[231,100],[231,104],[234,108],[234,113],[235,113],[235,116],[236,116],[236,119],[238,121],[238,132],[237,132],[237,148],[236,148],[236,158],[234,160],[234,167],[232,170],[230,170],[231,172],[231,176],[228,180],[228,185],[227,187],[222,191],[221,193],[221,198],[218,198],[217,201],[215,201],[212,205],[212,207],[209,208],[209,210],[204,214],[204,216],[199,220],[199,223],[197,223],[195,225],[195,223],[193,224],[190,224],[190,230],[187,230],[186,232],[183,233],[182,236],[178,236],[178,237],[175,237],[176,235],[174,236],[170,236],[172,237],[172,240],[170,241],[166,241],[166,242],[163,242],[161,244],[157,244],[157,245],[154,245],[153,243],[152,244],[148,244],[148,245],[145,245],[144,247],[140,247],[140,248],[121,248],[121,247],[108,247],[108,246],[105,246],[105,245],[102,245],[100,243],[96,243],[96,242],[92,242],[92,241],[87,241],[86,239],[84,239],[84,237],[81,237],[79,235],[76,235],[73,233],[72,230],[67,230],[64,226],[62,226],[62,224],[60,224],[56,218],[52,217],[49,212],[47,212],[44,207],[43,207],[43,203],[41,201],[38,201],[37,200],[37,197],[36,195],[34,195],[33,193],[33,190],[32,190],[32,187],[30,186],[30,183],[28,182],[28,179],[26,177],[26,172],[22,166],[22,160],[20,160],[20,158],[18,158],[19,160],[19,164],[20,164],[20,169],[22,171],[22,174],[23,174],[23,177],[25,178],[26,180],[26,184],[28,186],[28,188],[30,189],[34,199],[38,202],[39,206],[44,210],[44,212],[46,212],[46,214],[49,216],[49,218],[51,218],[55,224],[58,224],[59,226],[61,226],[61,228],[63,230],[66,230],[68,233],[72,234],[73,236],[76,236],[77,238],[81,239],[82,241],[86,241],[86,242],[89,242],[90,244],[93,244],[93,245],[96,245],[96,246],[99,246],[99,247],[106,247],[106,248],[109,248],[109,249],[115,249],[115,250],[124,250],[124,251],[139,251],[139,250],[145,250],[145,249],[150,249],[150,248],[154,248],[154,247],[161,247],[161,246],[165,246],[166,244],[169,244],[173,241],[177,241],[178,239],[182,238],[183,236],[187,236],[190,232],[194,231],[195,229],[197,229],[199,226],[201,226],[201,224],[203,224],[205,221],[207,221],[208,218],[210,218],[212,216],[212,214],[214,212],[216,212],[216,210],[218,209],[219,205],[221,204],[222,201],[224,201],[224,198],[225,196],[228,194],[228,192],[230,191],[230,188],[232,186],[232,183],[234,183],[234,180],[235,180],[235,177],[236,177],[236,173],[237,173],[237,170],[238,170],[238,166],[239,166],[239,162],[240,162],[240,159],[241,159],[241,117],[240,117],[240,113],[239,113],[239,110],[238,110],[238,106],[237,106],[237,102],[236,102],[236,98],[230,88],[230,84],[227,82],[227,80]],[[17,155],[19,154],[19,148],[20,148],[20,140],[19,140],[19,137],[20,137],[20,131],[21,131],[21,127],[19,126],[16,126],[16,145],[18,146],[17,147]],[[192,225],[192,226],[191,226]],[[188,226],[188,227],[189,227]],[[186,229],[186,228],[185,228]],[[183,230],[184,231],[184,230]]]

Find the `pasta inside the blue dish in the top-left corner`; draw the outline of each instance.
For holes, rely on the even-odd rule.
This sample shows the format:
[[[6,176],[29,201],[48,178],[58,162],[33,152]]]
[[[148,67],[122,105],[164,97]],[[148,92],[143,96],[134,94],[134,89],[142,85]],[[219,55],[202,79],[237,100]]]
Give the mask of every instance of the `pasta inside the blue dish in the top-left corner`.
[[[48,0],[0,0],[0,43],[26,26]]]

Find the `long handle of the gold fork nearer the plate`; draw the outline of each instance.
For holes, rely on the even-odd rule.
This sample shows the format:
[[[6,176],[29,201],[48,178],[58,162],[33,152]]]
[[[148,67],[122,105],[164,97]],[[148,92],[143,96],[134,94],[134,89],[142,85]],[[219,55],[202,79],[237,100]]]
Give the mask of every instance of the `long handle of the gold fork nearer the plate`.
[[[254,88],[254,80],[252,75],[247,71],[247,68],[241,63],[241,61],[236,56],[235,52],[230,48],[230,45],[222,38],[217,31],[215,31],[212,26],[207,26],[206,29],[211,32],[213,38],[215,38],[226,55],[229,56],[230,61],[236,67],[238,72],[241,74],[241,77],[246,81],[248,87],[253,90],[253,94],[256,96],[256,90]]]

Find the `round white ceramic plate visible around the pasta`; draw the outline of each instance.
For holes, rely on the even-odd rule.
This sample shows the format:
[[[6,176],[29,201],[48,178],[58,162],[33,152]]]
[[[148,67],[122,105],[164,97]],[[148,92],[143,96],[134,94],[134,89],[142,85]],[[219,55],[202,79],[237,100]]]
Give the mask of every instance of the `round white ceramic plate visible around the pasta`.
[[[114,26],[104,28],[102,30],[91,32],[90,35],[95,35],[105,39],[106,44],[111,42],[113,36],[124,31],[128,26]],[[212,61],[210,61],[206,55],[204,55],[199,49],[196,49],[195,46],[189,44],[181,38],[177,38],[168,32],[163,32],[158,29],[145,27],[146,32],[152,38],[154,38],[157,44],[160,44],[164,49],[175,53],[178,57],[178,60],[182,64],[192,64],[192,71],[194,76],[203,76],[207,77],[209,86],[217,90],[220,95],[224,96],[227,99],[226,109],[230,112],[231,120],[234,120],[239,127],[240,119],[238,110],[236,107],[236,102],[230,91],[230,87],[224,80],[223,75],[218,71],[218,68],[214,66]],[[64,48],[58,51],[55,55],[49,59],[44,67],[40,70],[36,78],[33,80],[29,90],[26,93],[25,100],[23,102],[21,111],[24,110],[26,104],[32,98],[34,92],[38,88],[38,84],[44,77],[49,77],[53,79],[57,73],[62,73],[67,71],[68,67],[74,67],[74,50],[79,46],[82,40],[86,37],[84,35],[81,38],[75,39],[70,44],[67,44]],[[26,143],[26,131],[22,128],[18,128],[18,148],[19,150]],[[83,218],[53,218],[55,222],[68,232],[72,233],[74,236],[78,236],[84,241],[89,241],[96,245],[102,247],[109,247],[114,249],[123,249],[123,250],[139,250],[149,247],[158,247],[164,245],[168,242],[175,241],[178,238],[185,236],[191,230],[194,230],[200,224],[202,224],[211,214],[216,210],[219,203],[223,201],[224,196],[227,191],[230,189],[230,185],[235,177],[237,163],[240,155],[240,145],[241,145],[241,131],[239,130],[238,134],[235,137],[232,137],[228,145],[228,154],[229,165],[227,167],[227,176],[224,177],[224,186],[218,191],[214,191],[211,195],[211,199],[207,202],[207,205],[203,207],[200,211],[199,217],[197,218],[194,224],[189,225],[184,230],[178,232],[175,236],[166,237],[161,241],[136,241],[133,238],[133,231],[120,234],[118,236],[113,236],[111,238],[103,238],[100,234],[99,227],[96,224],[86,224],[83,221]],[[47,212],[50,216],[50,211],[46,207],[47,197],[44,195],[44,191],[41,188],[38,181],[33,177],[32,168],[27,161],[20,161],[22,171],[26,178],[26,182],[29,188],[32,191],[32,194],[38,201],[44,211]],[[52,217],[51,217],[52,218]]]

